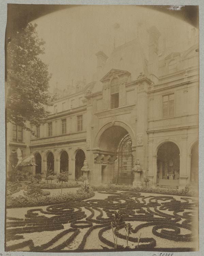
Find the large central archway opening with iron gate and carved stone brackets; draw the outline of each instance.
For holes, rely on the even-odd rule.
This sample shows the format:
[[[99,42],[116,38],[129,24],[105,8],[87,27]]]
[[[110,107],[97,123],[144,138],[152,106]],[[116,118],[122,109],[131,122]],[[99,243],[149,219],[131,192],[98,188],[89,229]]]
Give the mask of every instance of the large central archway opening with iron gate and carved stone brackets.
[[[132,139],[128,131],[122,126],[112,125],[100,135],[98,141],[99,153],[103,152],[99,155],[101,182],[132,184],[131,170],[134,157],[132,155]]]

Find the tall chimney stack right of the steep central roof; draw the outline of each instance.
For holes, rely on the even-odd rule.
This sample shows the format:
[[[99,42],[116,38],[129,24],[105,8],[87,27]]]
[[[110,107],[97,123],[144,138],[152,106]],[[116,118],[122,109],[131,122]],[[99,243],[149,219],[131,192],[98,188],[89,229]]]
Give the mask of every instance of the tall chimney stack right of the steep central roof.
[[[147,32],[149,34],[149,74],[151,76],[150,79],[157,83],[156,80],[158,80],[158,49],[160,32],[155,26],[148,29]]]

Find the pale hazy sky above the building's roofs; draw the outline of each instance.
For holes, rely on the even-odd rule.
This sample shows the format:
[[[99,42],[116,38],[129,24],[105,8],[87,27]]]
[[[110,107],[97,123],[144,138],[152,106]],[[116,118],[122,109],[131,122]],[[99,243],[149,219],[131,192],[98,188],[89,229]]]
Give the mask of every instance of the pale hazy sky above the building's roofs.
[[[98,51],[109,56],[115,47],[138,35],[147,55],[148,34],[146,29],[156,26],[161,33],[159,50],[164,45],[174,52],[184,51],[188,31],[193,28],[181,19],[162,12],[136,5],[84,5],[60,10],[33,21],[37,23],[39,38],[43,38],[45,54],[42,60],[49,64],[52,73],[50,90],[64,88],[83,80],[92,81],[96,71]],[[187,46],[186,46],[187,47]]]

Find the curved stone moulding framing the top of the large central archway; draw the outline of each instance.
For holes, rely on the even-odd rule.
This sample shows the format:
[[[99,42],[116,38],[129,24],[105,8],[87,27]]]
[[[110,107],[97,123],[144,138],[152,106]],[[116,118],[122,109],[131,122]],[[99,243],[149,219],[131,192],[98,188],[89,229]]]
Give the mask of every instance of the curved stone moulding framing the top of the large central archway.
[[[134,132],[130,128],[130,126],[127,125],[126,123],[122,122],[122,121],[114,120],[112,122],[109,122],[109,123],[105,124],[103,127],[101,127],[99,129],[99,131],[98,131],[98,133],[96,135],[95,141],[94,141],[94,148],[98,148],[99,147],[101,136],[102,136],[103,132],[106,129],[108,129],[109,127],[112,127],[112,126],[121,126],[121,127],[123,127],[130,134],[130,137],[131,137],[131,140],[132,140],[132,146],[136,146],[137,145]]]

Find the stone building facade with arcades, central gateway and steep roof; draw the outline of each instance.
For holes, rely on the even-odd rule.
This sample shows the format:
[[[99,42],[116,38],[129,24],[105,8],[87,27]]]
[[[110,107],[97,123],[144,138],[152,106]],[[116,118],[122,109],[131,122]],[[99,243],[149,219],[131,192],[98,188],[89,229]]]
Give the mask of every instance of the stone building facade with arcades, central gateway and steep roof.
[[[199,53],[159,52],[160,33],[148,30],[148,57],[139,38],[96,54],[94,82],[61,91],[30,151],[37,167],[78,179],[86,158],[92,184],[132,184],[139,159],[150,184],[185,187],[198,181]],[[170,51],[170,50],[169,50]]]

